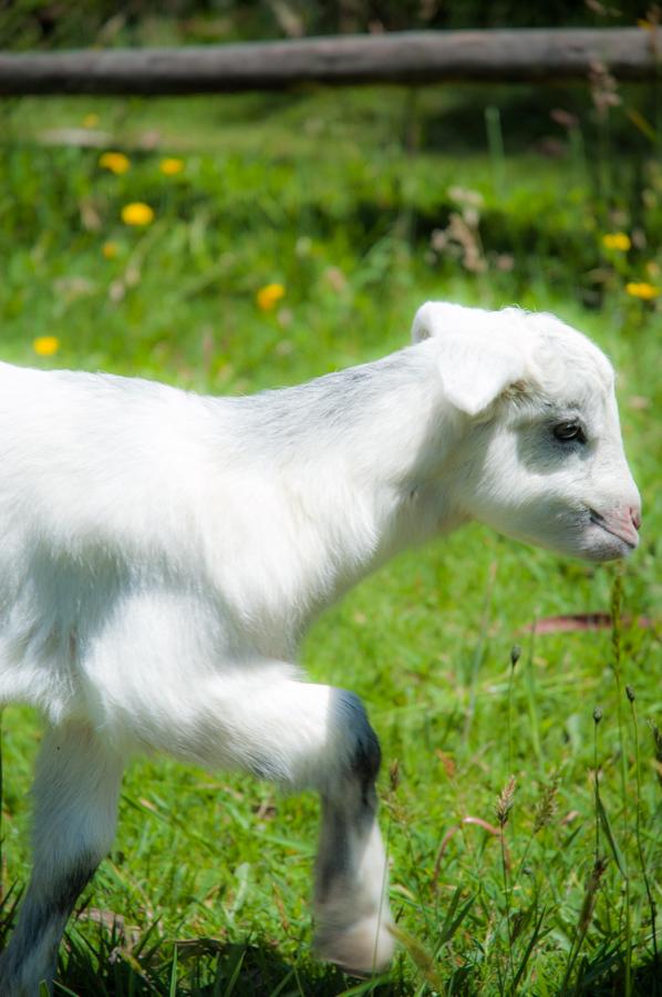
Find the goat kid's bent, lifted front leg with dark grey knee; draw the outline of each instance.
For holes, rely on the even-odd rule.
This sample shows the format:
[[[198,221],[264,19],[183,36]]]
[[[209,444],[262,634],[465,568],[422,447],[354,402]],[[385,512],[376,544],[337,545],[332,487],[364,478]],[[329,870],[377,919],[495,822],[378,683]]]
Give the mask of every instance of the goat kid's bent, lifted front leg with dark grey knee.
[[[383,969],[394,945],[376,823],[380,746],[361,700],[297,681],[278,662],[215,679],[199,696],[190,733],[178,729],[177,753],[320,793],[316,948],[348,970]]]

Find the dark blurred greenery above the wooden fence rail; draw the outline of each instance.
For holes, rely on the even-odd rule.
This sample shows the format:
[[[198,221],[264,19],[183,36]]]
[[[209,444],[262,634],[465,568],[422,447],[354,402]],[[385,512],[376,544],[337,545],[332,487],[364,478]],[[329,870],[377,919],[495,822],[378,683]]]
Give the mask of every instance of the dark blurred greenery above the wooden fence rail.
[[[620,0],[12,0],[0,6],[0,47],[206,44],[311,34],[461,28],[620,27],[656,18]]]

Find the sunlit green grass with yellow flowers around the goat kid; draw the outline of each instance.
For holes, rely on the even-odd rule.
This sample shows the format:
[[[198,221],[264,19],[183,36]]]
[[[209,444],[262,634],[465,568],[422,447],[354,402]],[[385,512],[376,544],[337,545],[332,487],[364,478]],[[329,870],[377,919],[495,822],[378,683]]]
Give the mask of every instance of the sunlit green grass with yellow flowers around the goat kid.
[[[307,638],[311,677],[360,693],[382,740],[390,974],[309,955],[312,796],[144,759],[55,993],[662,991],[661,136],[645,93],[622,100],[602,117],[581,91],[494,88],[0,104],[1,359],[245,393],[404,346],[431,297],[552,310],[618,368],[644,502],[622,567],[472,525]],[[549,621],[586,614],[616,624]],[[2,934],[39,738],[4,710]]]

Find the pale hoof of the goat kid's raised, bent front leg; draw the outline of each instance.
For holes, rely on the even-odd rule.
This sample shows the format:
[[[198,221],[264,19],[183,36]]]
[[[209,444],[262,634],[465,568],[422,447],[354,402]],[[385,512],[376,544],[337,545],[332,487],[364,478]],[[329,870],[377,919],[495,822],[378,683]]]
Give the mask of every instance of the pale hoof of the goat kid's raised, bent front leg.
[[[362,917],[346,928],[321,927],[314,939],[319,958],[335,963],[352,976],[372,976],[389,968],[395,939],[390,919],[376,915]]]

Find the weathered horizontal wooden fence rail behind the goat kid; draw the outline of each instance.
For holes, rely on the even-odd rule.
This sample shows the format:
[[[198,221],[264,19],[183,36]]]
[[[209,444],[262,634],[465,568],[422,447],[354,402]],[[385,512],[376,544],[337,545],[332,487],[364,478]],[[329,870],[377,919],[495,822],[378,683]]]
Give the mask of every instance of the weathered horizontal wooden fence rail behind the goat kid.
[[[0,53],[0,94],[577,80],[586,79],[596,61],[621,80],[643,80],[658,72],[656,34],[643,28],[407,31],[180,49]]]

